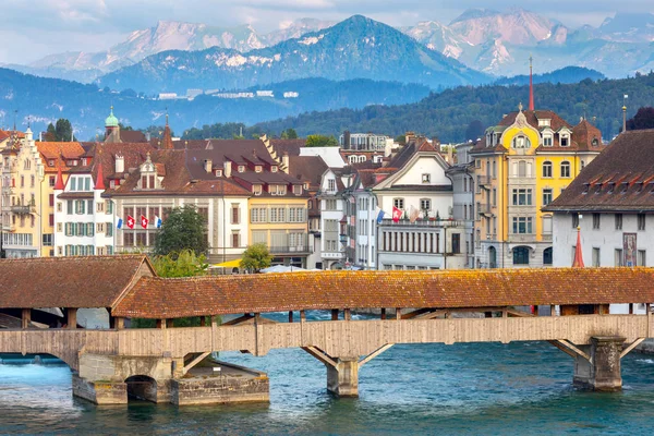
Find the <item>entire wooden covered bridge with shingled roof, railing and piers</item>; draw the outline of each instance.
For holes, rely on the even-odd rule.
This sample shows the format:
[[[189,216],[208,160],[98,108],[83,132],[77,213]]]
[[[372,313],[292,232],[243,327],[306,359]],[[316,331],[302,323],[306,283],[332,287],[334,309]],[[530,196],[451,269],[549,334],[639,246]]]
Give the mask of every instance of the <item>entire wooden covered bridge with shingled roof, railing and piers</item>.
[[[330,391],[356,396],[359,368],[396,343],[548,341],[574,359],[576,385],[615,390],[620,359],[654,337],[653,301],[652,268],[164,279],[142,255],[8,259],[0,261],[0,312],[16,324],[0,329],[0,353],[60,358],[74,372],[73,392],[97,403],[125,402],[131,377],[153,380],[154,401],[187,403],[210,402],[216,393],[209,382],[204,396],[197,384],[184,390],[189,372],[214,351],[301,348],[326,365]],[[646,315],[610,315],[615,303],[644,304]],[[534,316],[517,306],[557,311]],[[55,307],[65,315],[57,325],[65,327],[43,319],[40,310]],[[77,311],[87,307],[106,308],[108,328],[80,328]],[[355,310],[379,315],[353,320]],[[308,311],[329,311],[331,319],[307,320]],[[263,316],[277,312],[288,313],[288,322]],[[465,312],[482,315],[452,316]],[[238,317],[219,324],[218,315]],[[191,316],[202,325],[173,327]],[[131,318],[157,319],[157,328],[126,328]],[[190,390],[197,401],[185,397]]]

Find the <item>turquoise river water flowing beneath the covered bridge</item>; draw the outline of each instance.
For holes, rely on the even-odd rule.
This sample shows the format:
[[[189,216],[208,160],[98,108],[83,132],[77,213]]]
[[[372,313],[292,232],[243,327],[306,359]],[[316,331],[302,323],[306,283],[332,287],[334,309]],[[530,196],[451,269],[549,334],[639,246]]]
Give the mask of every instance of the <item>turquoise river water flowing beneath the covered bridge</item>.
[[[301,350],[221,359],[270,377],[270,403],[178,408],[73,399],[62,365],[0,364],[0,434],[455,435],[627,434],[654,429],[654,356],[622,361],[619,393],[576,391],[572,360],[546,343],[396,346],[334,399]]]

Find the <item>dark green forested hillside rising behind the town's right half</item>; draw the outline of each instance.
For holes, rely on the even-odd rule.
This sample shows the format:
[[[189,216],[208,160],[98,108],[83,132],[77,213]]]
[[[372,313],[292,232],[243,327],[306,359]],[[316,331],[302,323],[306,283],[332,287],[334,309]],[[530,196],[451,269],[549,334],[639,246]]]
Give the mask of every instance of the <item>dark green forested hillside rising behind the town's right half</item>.
[[[625,80],[586,78],[577,84],[537,84],[534,94],[536,109],[554,110],[571,124],[585,116],[602,130],[605,140],[610,140],[622,124],[625,95],[628,95],[628,117],[633,117],[642,106],[652,106],[654,73]],[[269,134],[292,128],[300,135],[338,134],[350,130],[395,136],[414,131],[438,136],[444,142],[460,142],[465,140],[470,122],[480,120],[484,126],[494,125],[502,114],[517,110],[520,102],[526,106],[528,101],[529,86],[462,86],[432,94],[415,104],[303,113],[254,128]]]

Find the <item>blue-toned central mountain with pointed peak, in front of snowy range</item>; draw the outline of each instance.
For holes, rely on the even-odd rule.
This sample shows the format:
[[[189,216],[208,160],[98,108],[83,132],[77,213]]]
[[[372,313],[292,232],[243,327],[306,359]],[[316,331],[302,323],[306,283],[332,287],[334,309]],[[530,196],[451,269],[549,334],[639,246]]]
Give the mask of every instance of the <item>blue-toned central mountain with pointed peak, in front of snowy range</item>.
[[[429,50],[393,27],[354,15],[331,27],[246,53],[218,47],[164,51],[106,74],[98,84],[149,94],[242,89],[307,77],[419,83],[433,89],[491,82],[491,76]]]

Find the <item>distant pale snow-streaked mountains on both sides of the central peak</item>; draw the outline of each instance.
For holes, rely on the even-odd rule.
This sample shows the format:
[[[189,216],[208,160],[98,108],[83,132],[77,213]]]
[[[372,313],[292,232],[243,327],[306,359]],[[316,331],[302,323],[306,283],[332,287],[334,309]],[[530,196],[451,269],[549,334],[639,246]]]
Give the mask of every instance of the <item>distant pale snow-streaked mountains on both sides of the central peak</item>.
[[[304,19],[261,34],[251,25],[227,28],[159,22],[155,27],[133,32],[106,51],[51,55],[26,65],[5,66],[88,83],[169,50],[214,48],[214,52],[225,49],[226,53],[235,50],[245,56],[254,51],[253,56],[258,56],[256,50],[324,31],[334,24]],[[620,12],[597,27],[570,28],[522,9],[468,10],[448,24],[424,21],[399,31],[432,51],[493,75],[524,74],[530,55],[537,72],[579,65],[598,70],[608,77],[623,77],[654,69],[654,14],[649,13]]]

